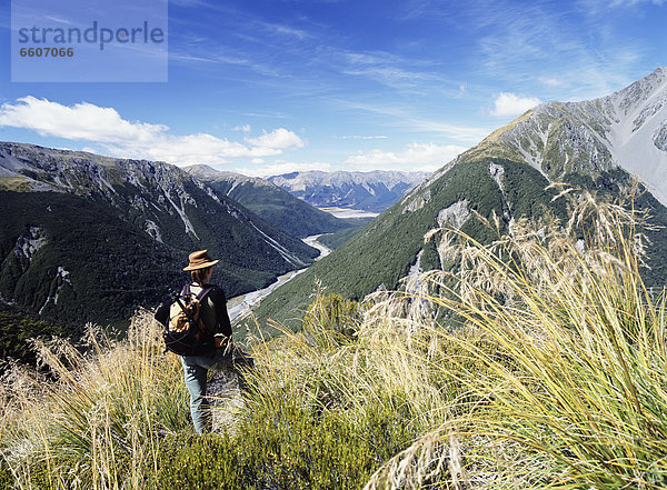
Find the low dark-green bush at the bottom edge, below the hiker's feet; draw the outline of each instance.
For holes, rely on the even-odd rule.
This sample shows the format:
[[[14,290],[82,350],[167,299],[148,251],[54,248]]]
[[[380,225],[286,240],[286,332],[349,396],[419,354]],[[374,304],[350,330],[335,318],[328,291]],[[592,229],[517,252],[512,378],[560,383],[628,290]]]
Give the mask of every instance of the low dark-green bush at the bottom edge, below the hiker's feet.
[[[160,488],[360,488],[416,436],[386,407],[357,424],[288,404],[252,411],[233,436],[207,434],[162,454]]]

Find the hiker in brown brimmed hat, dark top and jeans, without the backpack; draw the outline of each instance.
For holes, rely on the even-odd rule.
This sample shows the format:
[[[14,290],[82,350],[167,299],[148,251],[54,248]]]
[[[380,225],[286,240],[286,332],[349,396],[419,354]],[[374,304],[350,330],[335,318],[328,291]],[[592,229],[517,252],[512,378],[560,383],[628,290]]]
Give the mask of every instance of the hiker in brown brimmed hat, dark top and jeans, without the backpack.
[[[197,433],[211,430],[210,407],[206,401],[208,370],[216,364],[227,366],[239,377],[239,388],[242,386],[242,374],[237,368],[252,367],[252,358],[233,344],[231,322],[227,313],[227,299],[221,288],[210,284],[212,267],[219,260],[212,260],[207,250],[199,250],[189,256],[189,263],[183,270],[190,272],[192,282],[189,289],[193,294],[200,294],[202,288],[210,288],[201,300],[200,317],[205,328],[213,333],[215,348],[200,356],[181,356],[186,387],[190,392],[190,414]],[[187,287],[186,287],[187,288]]]

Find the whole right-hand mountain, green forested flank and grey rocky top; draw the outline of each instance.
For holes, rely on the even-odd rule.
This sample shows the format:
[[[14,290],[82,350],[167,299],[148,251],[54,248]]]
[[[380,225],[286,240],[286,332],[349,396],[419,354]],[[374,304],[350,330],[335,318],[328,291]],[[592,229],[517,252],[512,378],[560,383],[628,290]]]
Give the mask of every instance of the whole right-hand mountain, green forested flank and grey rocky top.
[[[389,208],[349,242],[267,297],[256,311],[260,321],[299,317],[316,288],[361,299],[378,289],[396,289],[410,272],[451,267],[434,243],[432,228],[455,226],[488,242],[494,236],[474,211],[501,231],[521,216],[546,209],[551,182],[569,182],[618,196],[636,173],[649,192],[636,207],[667,226],[667,69],[660,68],[608,97],[541,104],[494,131]],[[648,232],[649,286],[667,282],[667,229]]]

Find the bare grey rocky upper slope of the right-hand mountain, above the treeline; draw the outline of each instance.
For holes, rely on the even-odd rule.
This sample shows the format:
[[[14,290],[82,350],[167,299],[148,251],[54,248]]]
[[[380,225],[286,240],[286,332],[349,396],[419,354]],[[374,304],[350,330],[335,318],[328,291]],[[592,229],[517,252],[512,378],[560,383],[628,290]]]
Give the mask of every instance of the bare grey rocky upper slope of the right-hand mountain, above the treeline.
[[[621,168],[667,206],[667,68],[610,96],[538,106],[455,160],[502,157],[550,180]]]

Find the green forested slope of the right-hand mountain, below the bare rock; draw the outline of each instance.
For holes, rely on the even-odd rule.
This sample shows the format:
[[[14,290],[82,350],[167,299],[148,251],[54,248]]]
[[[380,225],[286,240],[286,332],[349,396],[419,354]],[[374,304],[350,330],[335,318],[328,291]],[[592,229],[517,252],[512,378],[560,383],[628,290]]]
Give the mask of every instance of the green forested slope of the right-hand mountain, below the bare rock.
[[[491,164],[502,169],[496,178],[489,171]],[[630,176],[620,169],[601,171],[595,177],[570,173],[564,176],[563,181],[608,199],[633,187]],[[273,319],[298,328],[306,306],[321,288],[359,300],[378,289],[397,289],[418,256],[421,270],[449,267],[442,263],[442,253],[436,244],[424,242],[424,236],[438,228],[439,213],[457,202],[465,201],[471,212],[489,221],[497,217],[500,232],[506,232],[511,221],[521,217],[539,218],[546,210],[563,218],[565,204],[561,200],[552,202],[559,190],[546,189],[548,184],[536,169],[511,160],[482,159],[452,166],[376,218],[334,253],[267,297],[255,310],[256,319],[259,324]],[[643,191],[636,196],[634,206],[649,212],[655,226],[645,230],[647,267],[641,273],[649,287],[661,289],[667,282],[667,264],[663,260],[667,257],[667,208]],[[470,216],[462,223],[462,232],[480,243],[496,238]],[[584,236],[587,231],[578,228],[578,232]]]

